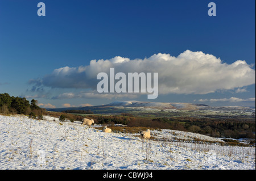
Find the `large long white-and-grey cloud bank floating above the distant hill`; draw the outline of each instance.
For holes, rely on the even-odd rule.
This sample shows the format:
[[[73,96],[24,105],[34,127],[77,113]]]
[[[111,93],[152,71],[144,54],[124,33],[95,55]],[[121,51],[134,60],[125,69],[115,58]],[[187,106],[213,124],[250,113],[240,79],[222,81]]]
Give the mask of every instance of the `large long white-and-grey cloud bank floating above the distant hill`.
[[[130,60],[130,58],[117,56],[109,60],[92,60],[87,66],[77,68],[66,66],[55,69],[42,79],[30,80],[30,83],[47,87],[95,91],[99,82],[96,79],[97,74],[100,72],[109,74],[110,68],[115,68],[115,73],[158,73],[159,94],[208,94],[218,90],[234,90],[238,87],[255,84],[255,70],[245,61],[237,60],[233,64],[226,64],[212,54],[192,52],[191,50],[186,50],[177,57],[158,53],[144,59]],[[245,89],[237,89],[237,92],[245,91]],[[98,95],[94,92],[83,95],[92,98],[113,96],[110,94]],[[71,98],[75,95],[61,96]]]

